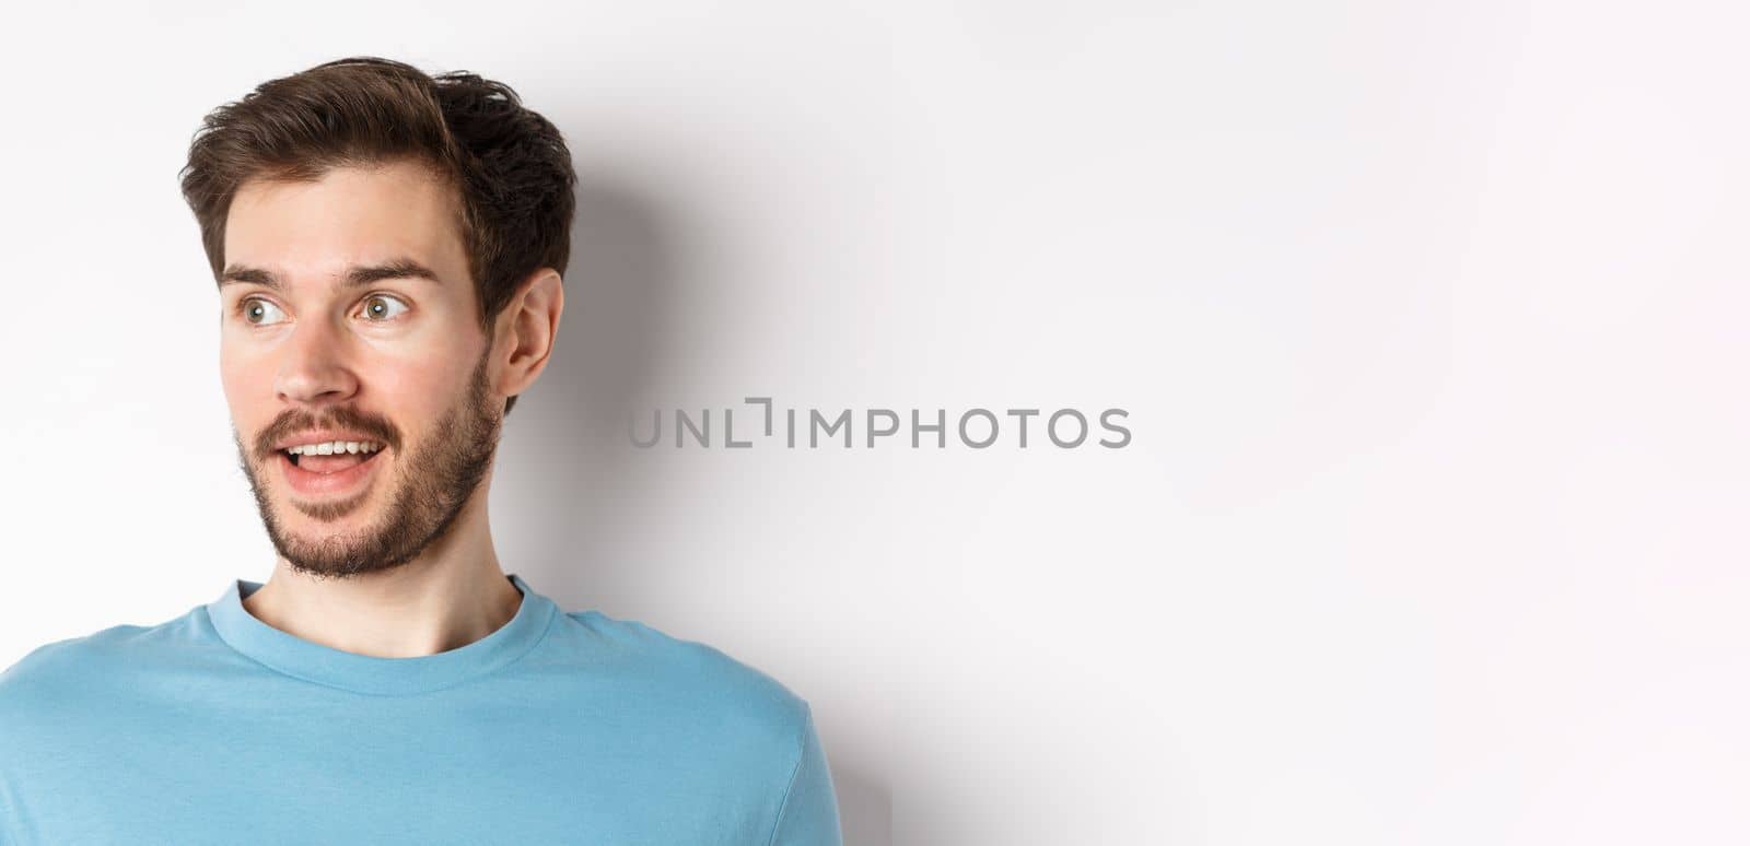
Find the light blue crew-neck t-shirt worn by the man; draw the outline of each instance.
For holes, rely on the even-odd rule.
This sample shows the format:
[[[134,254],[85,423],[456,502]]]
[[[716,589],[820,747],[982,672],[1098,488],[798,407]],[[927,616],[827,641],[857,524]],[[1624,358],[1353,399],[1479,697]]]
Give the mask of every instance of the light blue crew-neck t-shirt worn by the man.
[[[0,675],[0,844],[838,846],[808,703],[707,645],[523,594],[448,652],[275,629],[234,580]]]

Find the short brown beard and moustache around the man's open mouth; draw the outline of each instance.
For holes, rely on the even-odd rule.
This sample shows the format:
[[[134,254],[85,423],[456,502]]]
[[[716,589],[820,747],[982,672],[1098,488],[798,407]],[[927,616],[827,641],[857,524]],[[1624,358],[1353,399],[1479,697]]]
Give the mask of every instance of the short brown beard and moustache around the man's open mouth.
[[[292,411],[275,420],[256,439],[254,454],[262,468],[257,472],[257,461],[248,460],[250,453],[243,449],[243,442],[233,428],[238,460],[243,475],[248,477],[256,507],[261,510],[261,523],[268,530],[268,538],[273,540],[273,549],[290,565],[292,572],[315,579],[352,579],[394,570],[418,558],[450,531],[492,467],[499,430],[504,423],[502,407],[492,402],[486,381],[490,350],[488,343],[488,355],[480,357],[460,400],[430,428],[429,437],[413,454],[402,453],[401,432],[388,420],[352,407],[334,407],[320,420]],[[336,531],[320,538],[298,537],[285,530],[261,477],[276,470],[273,461],[278,461],[280,456],[273,444],[278,437],[312,428],[360,432],[394,453],[396,467],[401,472],[394,481],[396,489],[388,509],[376,524],[357,533]],[[362,509],[373,493],[374,486],[348,500],[303,505],[287,498],[287,503],[318,523],[332,523]]]

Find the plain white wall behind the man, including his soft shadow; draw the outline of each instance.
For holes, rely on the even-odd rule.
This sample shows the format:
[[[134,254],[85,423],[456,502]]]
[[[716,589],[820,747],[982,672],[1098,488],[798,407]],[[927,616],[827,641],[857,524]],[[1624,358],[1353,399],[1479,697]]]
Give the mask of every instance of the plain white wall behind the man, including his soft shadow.
[[[266,579],[175,175],[208,108],[369,52],[509,82],[583,175],[506,570],[808,699],[852,846],[1746,843],[1746,23],[7,12],[0,664]],[[583,425],[749,395],[1134,439]]]

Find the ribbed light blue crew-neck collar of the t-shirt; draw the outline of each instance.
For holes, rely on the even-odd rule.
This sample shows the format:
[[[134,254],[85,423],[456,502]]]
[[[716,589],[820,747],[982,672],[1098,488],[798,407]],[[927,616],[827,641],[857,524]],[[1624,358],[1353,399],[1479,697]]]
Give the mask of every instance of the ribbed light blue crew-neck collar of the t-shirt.
[[[231,648],[289,676],[360,694],[420,694],[492,673],[523,657],[546,634],[558,607],[516,573],[506,579],[523,594],[516,615],[492,634],[436,655],[360,655],[280,631],[243,608],[243,598],[261,587],[245,579],[233,579],[226,593],[206,605],[206,615]]]

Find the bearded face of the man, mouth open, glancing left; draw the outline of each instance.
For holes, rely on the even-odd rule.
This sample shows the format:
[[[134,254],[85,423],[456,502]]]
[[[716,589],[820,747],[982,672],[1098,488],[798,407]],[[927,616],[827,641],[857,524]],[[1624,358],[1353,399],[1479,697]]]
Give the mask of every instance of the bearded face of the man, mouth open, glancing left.
[[[224,393],[268,537],[298,572],[404,565],[492,467],[504,399],[452,191],[396,163],[252,180],[231,203]],[[366,446],[287,453],[334,440]]]

